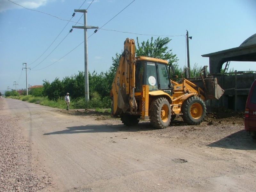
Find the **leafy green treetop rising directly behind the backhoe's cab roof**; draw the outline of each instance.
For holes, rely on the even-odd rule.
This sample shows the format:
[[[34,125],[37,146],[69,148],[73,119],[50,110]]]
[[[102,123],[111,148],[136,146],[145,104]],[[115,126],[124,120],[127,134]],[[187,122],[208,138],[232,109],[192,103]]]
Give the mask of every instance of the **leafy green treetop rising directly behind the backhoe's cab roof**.
[[[158,37],[153,42],[153,37],[151,37],[151,41],[141,42],[139,43],[139,39],[137,37],[137,47],[135,48],[136,57],[138,56],[145,56],[145,57],[153,57],[157,59],[167,60],[169,63],[175,63],[178,61],[176,54],[172,53],[172,49],[168,50],[167,44],[172,39],[165,37],[160,38]]]

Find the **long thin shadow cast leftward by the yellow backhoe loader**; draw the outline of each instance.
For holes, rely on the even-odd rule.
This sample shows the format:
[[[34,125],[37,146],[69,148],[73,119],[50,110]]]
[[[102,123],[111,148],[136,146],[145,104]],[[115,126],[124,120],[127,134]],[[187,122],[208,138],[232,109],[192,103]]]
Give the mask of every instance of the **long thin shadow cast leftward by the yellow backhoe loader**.
[[[44,135],[54,134],[72,134],[72,133],[98,133],[98,132],[138,132],[138,131],[151,131],[156,128],[152,127],[150,123],[143,122],[136,126],[125,126],[125,125],[81,125],[74,127],[67,127],[62,131],[44,133]]]

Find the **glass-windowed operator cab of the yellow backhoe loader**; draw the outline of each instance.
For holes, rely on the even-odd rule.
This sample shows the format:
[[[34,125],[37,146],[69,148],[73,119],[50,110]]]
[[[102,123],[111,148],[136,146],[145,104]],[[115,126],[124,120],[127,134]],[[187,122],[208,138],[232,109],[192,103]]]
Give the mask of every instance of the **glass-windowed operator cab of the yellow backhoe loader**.
[[[149,86],[149,92],[162,90],[172,95],[172,86],[165,60],[136,57],[135,92],[142,91],[142,85]]]

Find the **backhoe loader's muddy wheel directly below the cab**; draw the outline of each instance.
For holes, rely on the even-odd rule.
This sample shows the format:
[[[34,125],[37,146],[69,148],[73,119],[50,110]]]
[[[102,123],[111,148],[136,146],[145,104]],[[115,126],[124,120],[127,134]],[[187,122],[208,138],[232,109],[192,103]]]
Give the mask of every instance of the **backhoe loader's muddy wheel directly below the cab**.
[[[165,129],[171,121],[171,106],[166,98],[154,100],[149,108],[150,123],[160,129]]]

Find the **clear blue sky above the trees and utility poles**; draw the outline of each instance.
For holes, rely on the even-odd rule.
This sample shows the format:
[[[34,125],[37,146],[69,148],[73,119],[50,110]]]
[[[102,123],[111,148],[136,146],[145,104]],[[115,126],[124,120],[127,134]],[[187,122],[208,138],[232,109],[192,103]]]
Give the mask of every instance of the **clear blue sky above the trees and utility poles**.
[[[32,86],[43,84],[43,80],[52,82],[56,77],[62,80],[84,71],[84,30],[74,28],[69,33],[73,25],[84,23],[83,13],[77,12],[72,18],[74,9],[79,7],[87,9],[87,25],[100,28],[95,34],[94,29],[88,29],[88,69],[91,73],[107,71],[112,65],[111,58],[116,52],[121,53],[127,37],[135,41],[138,37],[142,42],[153,35],[154,39],[168,36],[172,39],[168,46],[183,67],[187,64],[185,36],[188,30],[192,36],[189,41],[192,67],[194,63],[209,65],[209,59],[201,55],[238,47],[256,33],[255,0],[11,1],[28,9],[0,0],[2,93],[8,87],[15,89],[14,82],[18,84],[17,89],[26,88],[22,63],[30,68],[28,84]],[[256,71],[255,62],[230,62],[229,68]]]

